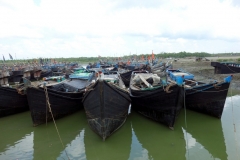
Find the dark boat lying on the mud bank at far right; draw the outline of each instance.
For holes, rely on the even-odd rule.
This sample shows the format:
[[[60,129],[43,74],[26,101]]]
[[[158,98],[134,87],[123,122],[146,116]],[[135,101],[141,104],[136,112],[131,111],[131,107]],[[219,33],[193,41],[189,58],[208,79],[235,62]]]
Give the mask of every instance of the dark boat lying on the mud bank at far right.
[[[211,62],[213,66],[214,74],[230,74],[230,73],[240,73],[240,64],[229,63],[229,62]]]

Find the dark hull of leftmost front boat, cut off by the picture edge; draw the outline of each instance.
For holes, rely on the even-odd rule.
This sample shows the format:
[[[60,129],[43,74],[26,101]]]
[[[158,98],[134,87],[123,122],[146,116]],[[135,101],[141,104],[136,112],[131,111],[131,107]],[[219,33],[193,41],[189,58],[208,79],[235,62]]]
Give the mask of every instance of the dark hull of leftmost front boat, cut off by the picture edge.
[[[21,95],[16,89],[0,87],[0,117],[29,110],[26,95]]]

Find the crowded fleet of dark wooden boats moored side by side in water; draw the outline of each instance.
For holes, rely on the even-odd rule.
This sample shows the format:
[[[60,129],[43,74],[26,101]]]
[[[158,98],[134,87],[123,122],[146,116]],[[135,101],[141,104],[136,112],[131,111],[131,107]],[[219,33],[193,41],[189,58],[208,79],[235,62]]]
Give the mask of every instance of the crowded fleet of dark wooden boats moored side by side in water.
[[[197,81],[163,62],[1,68],[0,117],[30,110],[37,126],[82,109],[89,127],[106,140],[131,109],[170,129],[185,108],[221,118],[231,80]]]

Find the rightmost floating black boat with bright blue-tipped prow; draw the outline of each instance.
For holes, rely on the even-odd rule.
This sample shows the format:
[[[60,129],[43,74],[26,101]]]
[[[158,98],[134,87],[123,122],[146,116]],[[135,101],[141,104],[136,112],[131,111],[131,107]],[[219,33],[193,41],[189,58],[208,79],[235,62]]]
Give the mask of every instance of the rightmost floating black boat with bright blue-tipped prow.
[[[185,80],[186,108],[221,118],[230,81],[231,76],[220,83]]]

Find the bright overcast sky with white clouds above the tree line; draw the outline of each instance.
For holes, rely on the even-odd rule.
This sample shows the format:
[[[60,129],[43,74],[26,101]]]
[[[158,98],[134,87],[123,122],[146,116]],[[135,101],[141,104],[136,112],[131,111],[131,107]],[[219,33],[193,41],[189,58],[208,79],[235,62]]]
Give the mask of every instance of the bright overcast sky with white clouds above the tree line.
[[[240,52],[239,0],[0,0],[9,59]],[[1,59],[2,56],[0,56]]]

